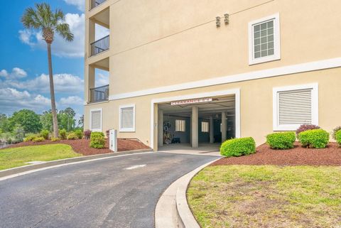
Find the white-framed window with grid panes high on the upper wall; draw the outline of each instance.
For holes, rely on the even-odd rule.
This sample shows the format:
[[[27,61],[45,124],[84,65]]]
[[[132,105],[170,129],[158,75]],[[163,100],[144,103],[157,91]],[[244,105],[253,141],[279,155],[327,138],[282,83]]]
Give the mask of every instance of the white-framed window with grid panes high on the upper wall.
[[[249,22],[249,65],[281,59],[279,13]]]

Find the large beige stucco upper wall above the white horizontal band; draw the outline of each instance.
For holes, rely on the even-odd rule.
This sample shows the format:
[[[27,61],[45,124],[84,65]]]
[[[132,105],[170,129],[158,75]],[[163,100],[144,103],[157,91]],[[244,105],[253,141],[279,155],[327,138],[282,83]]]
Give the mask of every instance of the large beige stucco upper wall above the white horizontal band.
[[[119,1],[110,6],[105,54],[110,94],[340,57],[340,8],[337,0]],[[233,13],[230,23],[216,28],[223,13]],[[250,66],[248,23],[274,13],[281,60]]]

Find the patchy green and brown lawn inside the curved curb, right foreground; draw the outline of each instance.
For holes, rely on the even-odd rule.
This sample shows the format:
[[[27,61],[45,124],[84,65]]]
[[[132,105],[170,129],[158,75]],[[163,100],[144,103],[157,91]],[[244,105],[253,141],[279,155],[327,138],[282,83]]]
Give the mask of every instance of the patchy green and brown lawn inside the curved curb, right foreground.
[[[202,228],[341,227],[340,166],[209,166],[187,193]]]

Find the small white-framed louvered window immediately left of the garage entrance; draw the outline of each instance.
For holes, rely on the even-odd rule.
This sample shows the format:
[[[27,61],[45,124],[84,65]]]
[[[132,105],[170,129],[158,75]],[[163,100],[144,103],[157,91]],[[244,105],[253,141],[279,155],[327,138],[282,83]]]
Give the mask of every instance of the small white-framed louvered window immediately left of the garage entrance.
[[[121,105],[119,107],[119,131],[135,131],[135,104]]]

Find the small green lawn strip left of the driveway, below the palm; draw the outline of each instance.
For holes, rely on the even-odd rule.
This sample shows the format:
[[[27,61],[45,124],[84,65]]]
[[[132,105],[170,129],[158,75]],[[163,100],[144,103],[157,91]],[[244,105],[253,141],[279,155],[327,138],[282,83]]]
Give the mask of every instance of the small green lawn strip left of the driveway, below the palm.
[[[22,146],[0,150],[0,170],[28,165],[29,161],[53,161],[82,156],[65,144]]]

